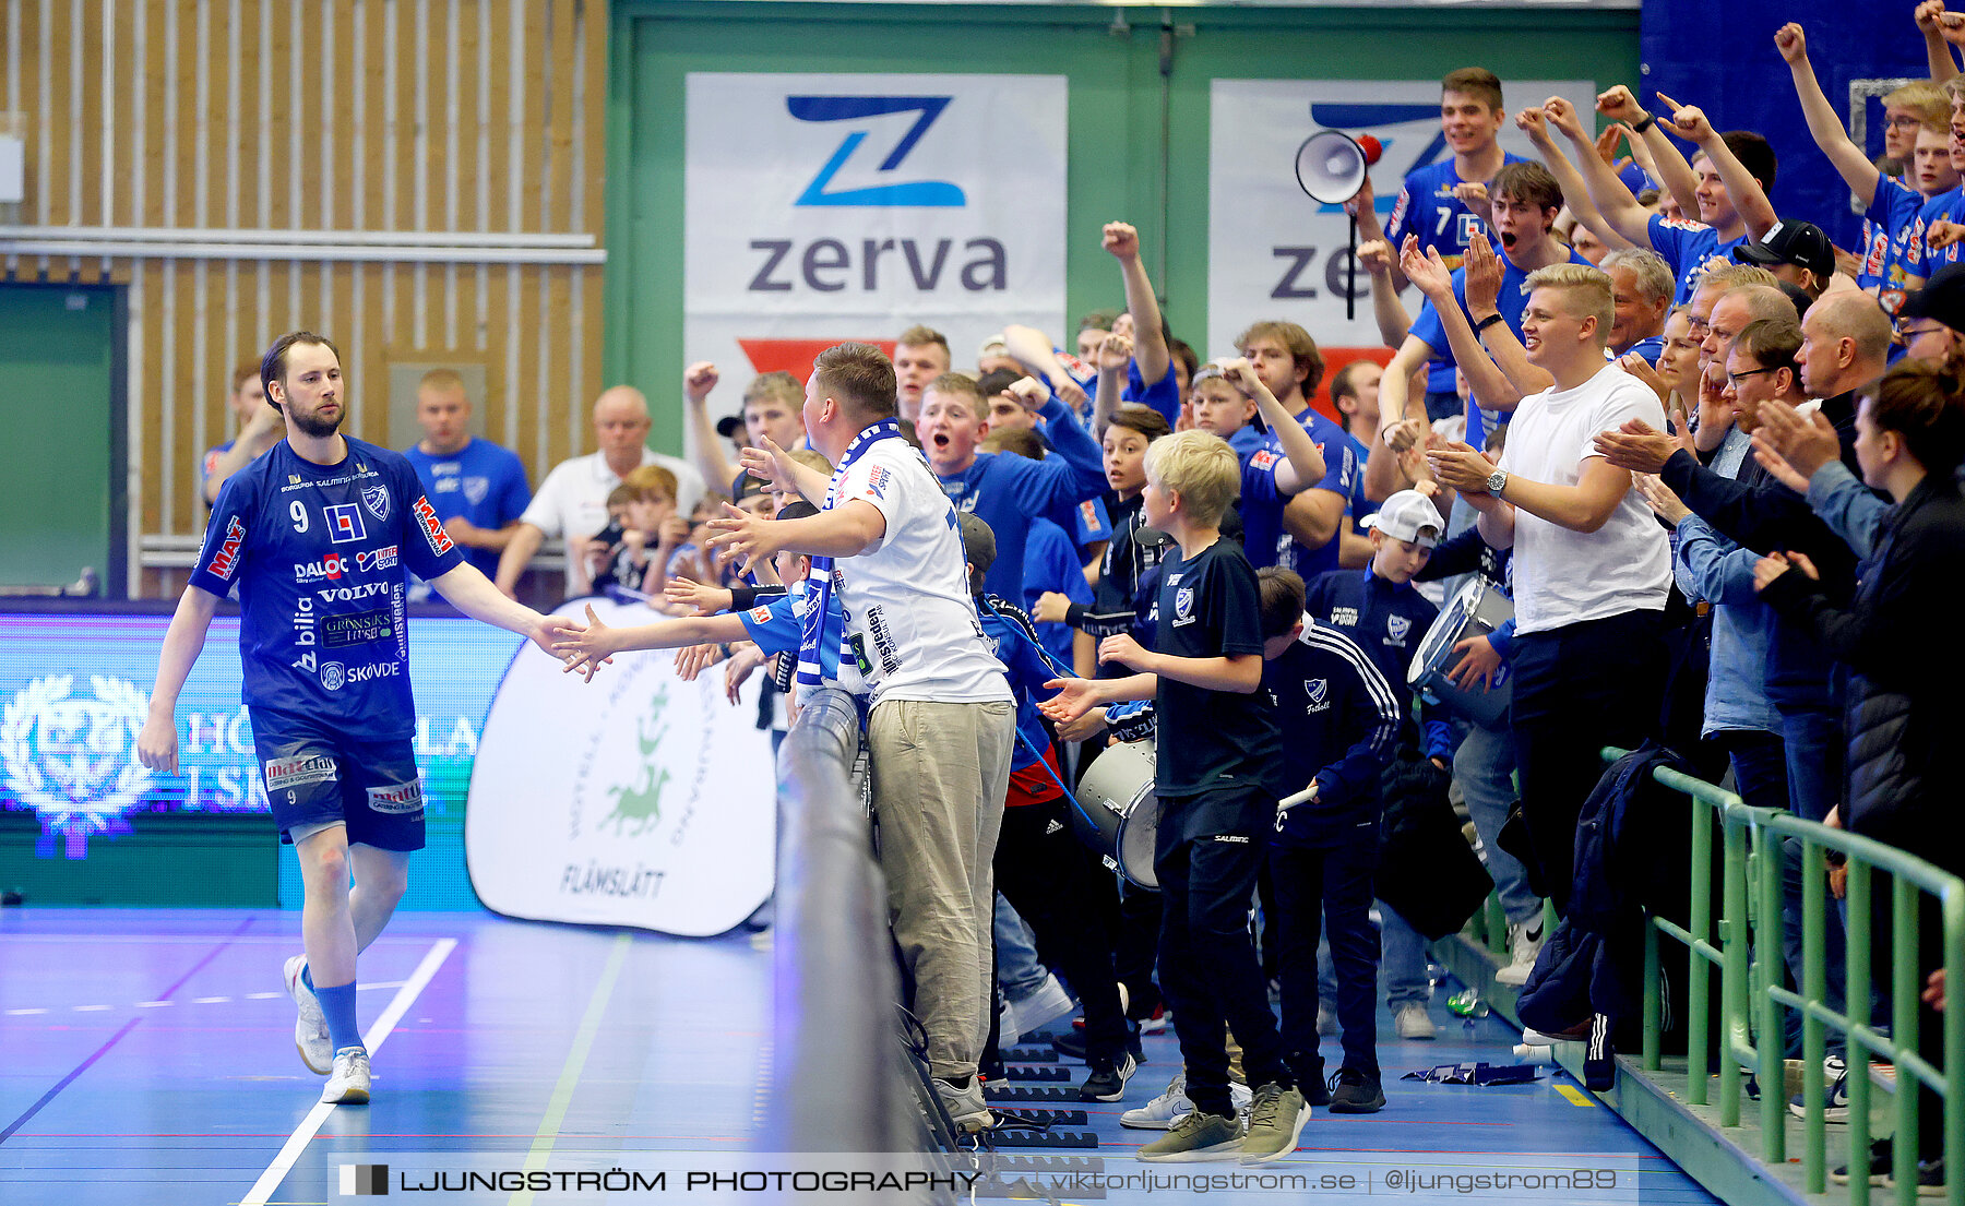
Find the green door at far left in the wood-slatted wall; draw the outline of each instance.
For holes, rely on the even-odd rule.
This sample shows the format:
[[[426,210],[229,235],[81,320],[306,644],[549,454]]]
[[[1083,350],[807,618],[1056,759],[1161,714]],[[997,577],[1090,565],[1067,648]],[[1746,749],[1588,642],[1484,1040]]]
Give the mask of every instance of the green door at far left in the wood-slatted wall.
[[[83,566],[122,593],[122,330],[114,287],[0,285],[0,585]]]

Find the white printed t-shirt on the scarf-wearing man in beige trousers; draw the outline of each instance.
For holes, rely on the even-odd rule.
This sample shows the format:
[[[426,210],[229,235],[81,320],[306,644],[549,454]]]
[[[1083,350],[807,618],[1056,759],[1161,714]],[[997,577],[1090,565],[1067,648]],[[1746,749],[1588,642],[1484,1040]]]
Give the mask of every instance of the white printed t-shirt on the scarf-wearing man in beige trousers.
[[[886,534],[833,562],[847,621],[841,662],[859,658],[872,701],[979,703],[1012,699],[969,593],[955,509],[906,440],[869,444],[843,469],[833,507],[870,503]]]

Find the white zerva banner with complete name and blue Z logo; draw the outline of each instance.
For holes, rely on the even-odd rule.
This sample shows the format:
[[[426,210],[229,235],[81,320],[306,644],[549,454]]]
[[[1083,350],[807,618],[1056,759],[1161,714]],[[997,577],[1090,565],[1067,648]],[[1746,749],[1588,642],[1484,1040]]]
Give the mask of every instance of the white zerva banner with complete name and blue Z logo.
[[[1067,92],[1061,75],[690,73],[686,356],[802,356],[802,373],[914,322],[959,348],[1061,328]],[[745,375],[723,379],[733,411]]]

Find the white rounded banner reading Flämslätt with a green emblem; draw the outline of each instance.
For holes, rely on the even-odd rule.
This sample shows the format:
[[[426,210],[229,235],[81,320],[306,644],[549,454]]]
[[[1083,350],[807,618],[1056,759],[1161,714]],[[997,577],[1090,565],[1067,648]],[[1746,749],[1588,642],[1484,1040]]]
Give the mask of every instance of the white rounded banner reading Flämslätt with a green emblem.
[[[641,603],[574,599],[611,627]],[[621,654],[591,684],[519,646],[472,766],[464,852],[491,911],[705,937],[770,896],[778,780],[757,727],[758,676],[739,703],[723,670],[676,678],[674,652]]]

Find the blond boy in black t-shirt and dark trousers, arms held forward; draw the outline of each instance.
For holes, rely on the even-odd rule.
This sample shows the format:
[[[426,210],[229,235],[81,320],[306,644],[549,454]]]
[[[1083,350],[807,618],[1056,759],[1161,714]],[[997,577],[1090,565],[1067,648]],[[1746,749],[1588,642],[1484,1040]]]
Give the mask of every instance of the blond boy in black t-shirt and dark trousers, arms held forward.
[[[1057,721],[1122,699],[1153,699],[1159,715],[1159,974],[1195,1110],[1142,1147],[1142,1161],[1281,1159],[1295,1151],[1311,1116],[1283,1061],[1248,937],[1256,872],[1275,825],[1267,772],[1281,750],[1260,693],[1256,572],[1242,548],[1220,536],[1240,481],[1240,458],[1220,436],[1179,432],[1148,448],[1142,515],[1177,546],[1161,562],[1155,648],[1128,634],[1106,636],[1098,660],[1132,668],[1132,678],[1045,684],[1059,691],[1043,705]],[[1248,1082],[1258,1086],[1246,1133],[1228,1096],[1224,1025],[1242,1043]]]

